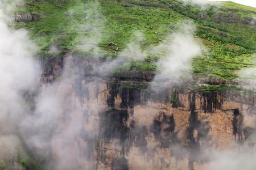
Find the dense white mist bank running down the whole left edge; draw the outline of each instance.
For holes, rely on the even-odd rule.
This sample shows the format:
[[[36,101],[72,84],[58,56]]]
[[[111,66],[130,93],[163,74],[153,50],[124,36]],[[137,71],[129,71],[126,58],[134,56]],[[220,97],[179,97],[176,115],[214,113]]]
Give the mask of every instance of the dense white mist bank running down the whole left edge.
[[[28,91],[35,91],[40,82],[40,65],[33,58],[36,46],[28,40],[26,31],[15,31],[7,25],[12,5],[16,3],[0,2],[0,150],[1,158],[8,163],[18,159],[15,148],[22,146],[18,128],[30,113],[25,96]],[[13,166],[20,168],[18,163]]]

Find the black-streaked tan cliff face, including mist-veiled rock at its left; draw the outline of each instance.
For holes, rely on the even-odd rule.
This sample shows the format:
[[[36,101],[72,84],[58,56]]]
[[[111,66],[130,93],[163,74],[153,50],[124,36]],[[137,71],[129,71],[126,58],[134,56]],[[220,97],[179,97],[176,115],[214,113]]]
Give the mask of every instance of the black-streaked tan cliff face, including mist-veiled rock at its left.
[[[87,62],[80,59],[72,61],[82,67]],[[42,80],[52,82],[63,65],[63,58],[44,59]],[[251,94],[172,86],[150,93],[144,80],[106,79],[88,71],[75,86],[62,86],[60,91],[73,96],[78,88],[81,108],[86,106],[89,112],[97,108],[97,142],[90,151],[93,169],[209,169],[210,157],[204,155],[204,148],[213,151],[254,145],[247,140],[255,134],[256,108]],[[92,76],[97,81],[85,83]],[[91,108],[89,100],[97,107]],[[83,141],[82,135],[77,138]],[[59,145],[52,145],[52,151]]]

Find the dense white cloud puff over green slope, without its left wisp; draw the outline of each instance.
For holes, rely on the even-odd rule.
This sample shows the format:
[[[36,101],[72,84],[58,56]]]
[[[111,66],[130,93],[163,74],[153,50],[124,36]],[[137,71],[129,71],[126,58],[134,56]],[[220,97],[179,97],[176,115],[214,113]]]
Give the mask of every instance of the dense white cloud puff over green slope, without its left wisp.
[[[163,43],[151,48],[151,53],[160,56],[156,65],[158,73],[151,84],[153,90],[162,87],[154,87],[160,82],[178,83],[185,74],[191,76],[191,61],[193,57],[201,54],[203,46],[193,37],[195,26],[192,23],[179,24],[179,31],[172,33]]]

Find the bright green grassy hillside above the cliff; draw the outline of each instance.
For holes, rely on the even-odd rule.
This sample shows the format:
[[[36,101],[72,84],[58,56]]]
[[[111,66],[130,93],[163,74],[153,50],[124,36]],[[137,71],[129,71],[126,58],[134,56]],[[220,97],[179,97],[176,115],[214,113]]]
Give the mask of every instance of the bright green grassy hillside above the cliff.
[[[177,0],[38,0],[27,1],[17,11],[40,15],[40,20],[16,23],[16,27],[28,28],[40,53],[46,56],[52,45],[64,53],[81,50],[83,44],[90,50],[98,44],[100,53],[115,56],[134,39],[134,31],[143,33],[139,43],[146,48],[175,32],[176,23],[192,20],[197,27],[195,38],[207,48],[193,59],[195,78],[231,82],[237,78],[237,70],[254,64],[256,27],[252,19],[256,18],[256,9],[233,2],[200,7]],[[154,73],[158,57],[127,63],[121,70]]]

